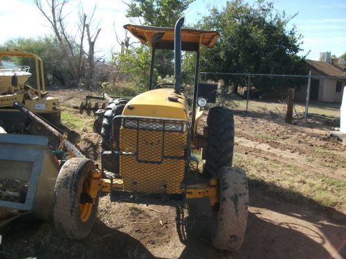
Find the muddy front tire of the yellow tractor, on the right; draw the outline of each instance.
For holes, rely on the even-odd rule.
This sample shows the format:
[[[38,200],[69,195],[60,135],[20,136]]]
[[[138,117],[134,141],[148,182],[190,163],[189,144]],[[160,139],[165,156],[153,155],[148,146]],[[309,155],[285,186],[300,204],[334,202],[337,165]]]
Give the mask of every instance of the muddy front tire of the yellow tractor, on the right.
[[[242,246],[248,218],[248,182],[243,169],[223,167],[219,173],[219,210],[213,211],[212,244],[234,251]]]

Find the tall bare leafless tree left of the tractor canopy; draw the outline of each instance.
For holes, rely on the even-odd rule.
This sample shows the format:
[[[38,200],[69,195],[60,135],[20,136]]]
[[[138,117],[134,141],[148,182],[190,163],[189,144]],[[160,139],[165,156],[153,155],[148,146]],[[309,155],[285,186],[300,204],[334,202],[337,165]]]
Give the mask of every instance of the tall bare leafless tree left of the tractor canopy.
[[[91,35],[90,23],[93,19],[95,8],[89,20],[85,13],[80,15],[79,28],[79,40],[77,36],[71,36],[66,30],[66,16],[64,16],[64,6],[69,3],[69,0],[50,0],[42,4],[41,0],[34,0],[37,8],[42,12],[42,15],[46,17],[48,23],[53,29],[57,42],[67,60],[69,66],[69,73],[71,75],[71,84],[77,83],[78,86],[82,83],[83,73],[86,74],[86,89],[95,85],[95,79],[93,75],[95,73],[95,41],[100,33],[100,28],[96,29],[95,35]],[[89,44],[88,52],[84,51],[84,36],[85,30],[87,34],[87,41]],[[85,59],[88,63],[88,67],[84,67]],[[85,71],[87,70],[87,71]]]

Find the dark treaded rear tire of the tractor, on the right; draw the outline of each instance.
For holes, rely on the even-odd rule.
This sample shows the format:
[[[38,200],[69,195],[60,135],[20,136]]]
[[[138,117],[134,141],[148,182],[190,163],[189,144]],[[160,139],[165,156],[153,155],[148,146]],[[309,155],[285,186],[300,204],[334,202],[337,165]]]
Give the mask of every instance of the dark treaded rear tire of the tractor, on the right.
[[[235,123],[233,111],[226,107],[210,108],[207,117],[208,144],[204,173],[217,178],[221,167],[232,166],[235,142]]]

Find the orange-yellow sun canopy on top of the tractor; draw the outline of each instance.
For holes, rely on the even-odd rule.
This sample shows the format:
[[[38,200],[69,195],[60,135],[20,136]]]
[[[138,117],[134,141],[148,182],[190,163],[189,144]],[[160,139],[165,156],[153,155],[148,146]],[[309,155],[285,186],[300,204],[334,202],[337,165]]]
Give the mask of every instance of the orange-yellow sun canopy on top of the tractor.
[[[124,26],[142,44],[149,42],[153,48],[174,50],[174,28],[136,26],[127,24]],[[212,48],[219,37],[219,33],[213,30],[181,29],[181,50],[197,51],[202,45]]]

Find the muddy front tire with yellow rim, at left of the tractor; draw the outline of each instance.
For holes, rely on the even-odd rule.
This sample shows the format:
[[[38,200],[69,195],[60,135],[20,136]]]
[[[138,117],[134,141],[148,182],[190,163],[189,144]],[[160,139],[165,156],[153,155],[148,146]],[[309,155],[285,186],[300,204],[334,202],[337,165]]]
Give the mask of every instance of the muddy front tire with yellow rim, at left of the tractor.
[[[73,157],[60,169],[54,189],[53,222],[57,232],[69,239],[86,238],[93,229],[98,211],[98,196],[86,202],[84,191],[95,169],[93,161]],[[84,199],[84,201],[82,200]]]

